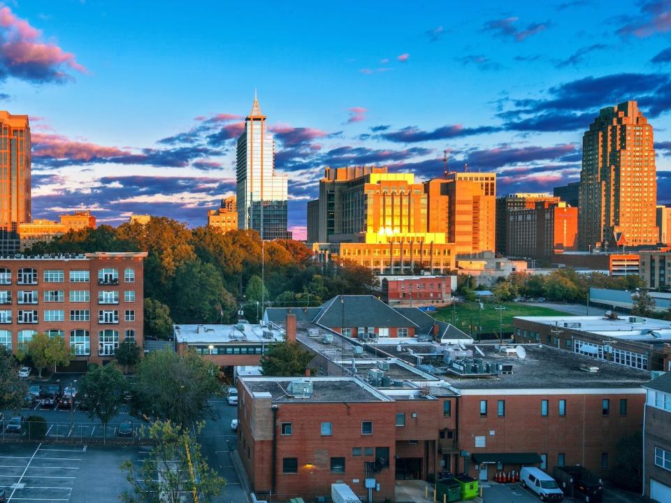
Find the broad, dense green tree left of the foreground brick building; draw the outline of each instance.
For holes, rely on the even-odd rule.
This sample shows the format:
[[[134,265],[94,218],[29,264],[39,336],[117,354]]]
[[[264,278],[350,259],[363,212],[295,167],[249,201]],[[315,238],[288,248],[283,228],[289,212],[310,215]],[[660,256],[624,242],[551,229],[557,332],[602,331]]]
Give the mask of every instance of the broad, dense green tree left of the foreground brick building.
[[[212,416],[208,400],[221,392],[217,366],[193,351],[154,351],[136,369],[134,414],[189,426]]]

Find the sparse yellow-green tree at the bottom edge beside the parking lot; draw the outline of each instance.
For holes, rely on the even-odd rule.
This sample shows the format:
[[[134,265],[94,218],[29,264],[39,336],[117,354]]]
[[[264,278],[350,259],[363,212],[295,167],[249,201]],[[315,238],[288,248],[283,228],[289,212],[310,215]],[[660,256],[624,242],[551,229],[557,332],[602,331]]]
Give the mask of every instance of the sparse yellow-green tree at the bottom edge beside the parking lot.
[[[208,503],[226,486],[226,479],[208,465],[188,428],[157,421],[148,428],[143,426],[141,433],[147,435],[153,447],[139,468],[131,460],[122,463],[132,488],[132,492],[124,490],[122,502],[182,503],[185,494],[192,493],[194,501]]]

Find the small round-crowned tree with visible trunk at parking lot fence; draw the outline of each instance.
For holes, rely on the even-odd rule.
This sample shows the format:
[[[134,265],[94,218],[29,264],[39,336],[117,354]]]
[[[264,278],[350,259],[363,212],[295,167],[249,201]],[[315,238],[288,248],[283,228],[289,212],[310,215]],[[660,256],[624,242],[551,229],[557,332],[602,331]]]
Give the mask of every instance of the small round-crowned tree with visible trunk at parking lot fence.
[[[79,382],[77,396],[89,416],[103,423],[103,442],[107,439],[108,423],[119,414],[126,388],[126,379],[114,365],[95,367]]]

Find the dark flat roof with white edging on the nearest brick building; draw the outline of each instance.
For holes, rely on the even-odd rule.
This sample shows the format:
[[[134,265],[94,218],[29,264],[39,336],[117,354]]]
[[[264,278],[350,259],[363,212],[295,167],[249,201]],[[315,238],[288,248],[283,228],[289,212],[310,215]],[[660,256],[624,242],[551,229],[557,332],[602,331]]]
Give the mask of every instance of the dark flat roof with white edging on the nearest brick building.
[[[310,381],[312,395],[292,396],[289,393],[292,380]],[[391,402],[373,386],[354,377],[240,377],[240,381],[250,393],[269,393],[273,402],[278,403]]]

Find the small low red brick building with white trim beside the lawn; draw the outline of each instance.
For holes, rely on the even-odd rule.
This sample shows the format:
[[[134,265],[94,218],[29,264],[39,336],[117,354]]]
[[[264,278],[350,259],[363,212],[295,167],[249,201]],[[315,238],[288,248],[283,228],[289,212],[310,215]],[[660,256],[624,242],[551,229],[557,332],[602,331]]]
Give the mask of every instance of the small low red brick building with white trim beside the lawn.
[[[382,277],[382,300],[390,306],[445,306],[455,290],[456,276]]]

